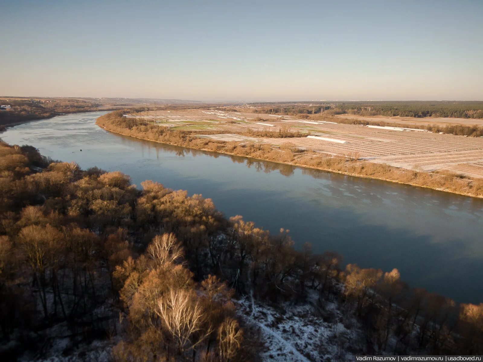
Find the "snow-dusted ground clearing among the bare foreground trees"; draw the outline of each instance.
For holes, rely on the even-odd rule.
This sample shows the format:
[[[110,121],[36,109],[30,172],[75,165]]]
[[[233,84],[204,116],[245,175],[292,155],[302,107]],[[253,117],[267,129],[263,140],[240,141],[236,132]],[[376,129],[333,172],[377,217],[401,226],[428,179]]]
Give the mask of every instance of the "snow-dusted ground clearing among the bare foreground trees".
[[[276,308],[250,296],[239,301],[245,330],[259,331],[264,340],[262,361],[347,361],[359,352],[357,341],[363,334],[358,322],[343,316],[340,305],[325,301],[321,309],[313,299]]]

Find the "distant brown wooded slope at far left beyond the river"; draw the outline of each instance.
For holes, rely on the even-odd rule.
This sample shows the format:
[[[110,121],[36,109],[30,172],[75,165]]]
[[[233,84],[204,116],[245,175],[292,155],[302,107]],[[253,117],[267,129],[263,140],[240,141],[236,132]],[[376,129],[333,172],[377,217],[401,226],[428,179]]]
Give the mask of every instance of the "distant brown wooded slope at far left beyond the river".
[[[43,99],[0,99],[1,104],[8,104],[12,109],[0,111],[0,127],[16,122],[43,119],[63,113],[88,112],[98,109],[101,104],[71,98]]]

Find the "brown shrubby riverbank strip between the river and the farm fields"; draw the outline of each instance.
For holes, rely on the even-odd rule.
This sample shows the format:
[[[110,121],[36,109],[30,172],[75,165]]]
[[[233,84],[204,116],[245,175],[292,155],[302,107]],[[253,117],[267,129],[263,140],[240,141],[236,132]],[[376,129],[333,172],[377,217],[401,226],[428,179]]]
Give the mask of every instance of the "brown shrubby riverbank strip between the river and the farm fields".
[[[191,132],[169,130],[150,124],[145,120],[123,117],[122,112],[112,112],[100,116],[96,124],[114,133],[158,143],[224,153],[232,156],[245,156],[292,166],[483,198],[482,180],[460,178],[456,174],[434,174],[412,171],[384,164],[376,164],[357,158],[351,159],[300,150],[290,145],[282,145],[280,148],[277,148],[251,142],[226,142],[210,138],[200,138]]]

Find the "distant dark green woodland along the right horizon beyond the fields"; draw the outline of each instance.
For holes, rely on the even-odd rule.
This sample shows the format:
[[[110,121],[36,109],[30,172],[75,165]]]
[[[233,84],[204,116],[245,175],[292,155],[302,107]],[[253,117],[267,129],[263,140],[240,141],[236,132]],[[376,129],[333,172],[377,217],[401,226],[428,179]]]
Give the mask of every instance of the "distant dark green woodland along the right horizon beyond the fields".
[[[250,103],[260,113],[483,118],[483,101],[312,101]]]

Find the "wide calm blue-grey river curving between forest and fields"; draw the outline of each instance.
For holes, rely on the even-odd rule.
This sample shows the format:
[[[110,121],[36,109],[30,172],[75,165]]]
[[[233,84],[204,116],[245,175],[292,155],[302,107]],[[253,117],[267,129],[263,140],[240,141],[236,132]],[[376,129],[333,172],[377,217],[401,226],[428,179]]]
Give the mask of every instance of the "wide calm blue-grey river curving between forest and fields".
[[[124,137],[95,125],[104,113],[32,121],[0,138],[82,168],[120,170],[138,187],[150,179],[202,194],[227,217],[289,229],[296,247],[398,268],[411,287],[483,302],[483,200]]]

